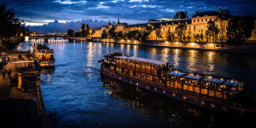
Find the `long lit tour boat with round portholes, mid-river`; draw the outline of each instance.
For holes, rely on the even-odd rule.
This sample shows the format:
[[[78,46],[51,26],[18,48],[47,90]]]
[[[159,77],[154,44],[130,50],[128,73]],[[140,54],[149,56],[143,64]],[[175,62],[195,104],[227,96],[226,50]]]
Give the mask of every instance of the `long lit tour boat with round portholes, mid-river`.
[[[101,74],[215,112],[256,117],[256,101],[242,92],[241,80],[173,70],[171,62],[122,54],[110,52],[99,60]]]

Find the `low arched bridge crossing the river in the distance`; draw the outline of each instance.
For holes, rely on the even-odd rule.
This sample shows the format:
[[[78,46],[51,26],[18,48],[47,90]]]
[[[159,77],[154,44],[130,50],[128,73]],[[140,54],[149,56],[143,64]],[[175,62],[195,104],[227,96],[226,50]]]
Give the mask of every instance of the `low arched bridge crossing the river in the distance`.
[[[69,39],[69,40],[83,40],[83,41],[92,41],[92,38],[93,37],[75,37],[75,36],[29,36],[28,39],[38,39],[38,38],[41,38],[41,39],[44,39],[44,41],[48,41],[48,39],[51,39],[51,38],[64,38],[64,39]]]

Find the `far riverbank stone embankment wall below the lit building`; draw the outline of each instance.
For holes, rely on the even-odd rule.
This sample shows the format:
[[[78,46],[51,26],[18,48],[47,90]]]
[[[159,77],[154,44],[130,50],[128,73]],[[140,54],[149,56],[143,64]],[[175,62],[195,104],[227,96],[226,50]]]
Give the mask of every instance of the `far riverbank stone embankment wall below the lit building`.
[[[180,46],[171,46],[170,43],[169,45],[165,44],[163,41],[155,41],[158,43],[147,43],[147,44],[142,44],[141,42],[134,42],[134,43],[120,43],[120,42],[108,42],[108,41],[97,41],[97,42],[102,42],[102,43],[113,43],[113,44],[131,44],[131,45],[142,45],[142,46],[147,46],[147,47],[165,47],[165,48],[173,48],[173,49],[186,49],[186,50],[198,50],[198,51],[212,51],[212,52],[234,52],[234,53],[249,53],[249,54],[256,54],[256,49],[254,50],[243,50],[243,49],[217,49],[217,48],[206,48],[206,46],[201,47],[184,47],[181,45]],[[162,43],[159,43],[162,42]],[[135,44],[136,43],[136,44]],[[178,44],[176,44],[178,45]],[[198,45],[198,44],[197,44]],[[227,45],[227,44],[225,44]]]

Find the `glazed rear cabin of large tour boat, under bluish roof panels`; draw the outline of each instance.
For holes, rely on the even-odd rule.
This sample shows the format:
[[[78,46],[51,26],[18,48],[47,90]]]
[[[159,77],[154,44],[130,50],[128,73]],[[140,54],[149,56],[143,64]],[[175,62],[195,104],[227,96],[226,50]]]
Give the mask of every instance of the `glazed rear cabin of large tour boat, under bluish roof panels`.
[[[235,95],[243,89],[242,81],[225,79],[183,71],[167,73],[167,87],[221,101],[233,101]]]

